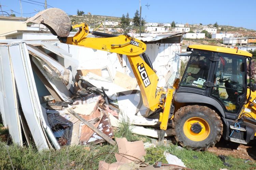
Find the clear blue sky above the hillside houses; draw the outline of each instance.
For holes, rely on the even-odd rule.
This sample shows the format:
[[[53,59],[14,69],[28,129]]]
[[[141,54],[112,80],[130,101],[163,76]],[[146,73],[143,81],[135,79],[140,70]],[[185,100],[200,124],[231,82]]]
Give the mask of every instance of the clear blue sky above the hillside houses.
[[[44,10],[44,0],[33,1],[21,1],[23,16],[30,17],[35,10]],[[16,16],[20,16],[19,0],[0,0],[0,3],[2,11],[11,14],[12,9]],[[128,12],[132,18],[139,10],[139,0],[47,0],[47,4],[68,14],[76,14],[79,9],[85,14],[121,17]],[[141,0],[141,6],[142,17],[147,22],[174,20],[178,23],[213,24],[217,21],[219,25],[256,30],[256,0]]]

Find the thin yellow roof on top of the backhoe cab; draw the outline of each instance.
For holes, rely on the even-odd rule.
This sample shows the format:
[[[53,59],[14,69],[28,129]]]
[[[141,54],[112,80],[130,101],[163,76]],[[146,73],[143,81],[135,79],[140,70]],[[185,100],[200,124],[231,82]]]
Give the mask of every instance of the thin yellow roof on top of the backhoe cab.
[[[200,50],[209,50],[209,51],[236,54],[236,55],[243,55],[243,56],[247,56],[247,57],[252,57],[253,56],[253,54],[251,54],[247,51],[237,50],[237,49],[234,49],[234,48],[220,47],[220,46],[190,45],[190,46],[188,46],[188,48],[200,49]]]

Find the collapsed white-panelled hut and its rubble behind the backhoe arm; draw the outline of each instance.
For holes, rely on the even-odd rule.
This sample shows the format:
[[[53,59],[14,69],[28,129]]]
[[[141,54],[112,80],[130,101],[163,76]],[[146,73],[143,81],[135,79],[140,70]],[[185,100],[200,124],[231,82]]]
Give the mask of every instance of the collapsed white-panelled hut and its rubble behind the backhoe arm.
[[[137,38],[147,44],[153,68],[159,70],[159,83],[174,80],[182,33]],[[129,116],[133,133],[157,137],[159,130],[143,127],[157,126],[158,118],[145,118],[150,113],[143,106],[126,56],[57,40],[1,40],[0,44],[0,112],[14,143],[22,146],[25,141],[43,150],[103,142],[67,112],[71,107],[110,138],[120,113]]]

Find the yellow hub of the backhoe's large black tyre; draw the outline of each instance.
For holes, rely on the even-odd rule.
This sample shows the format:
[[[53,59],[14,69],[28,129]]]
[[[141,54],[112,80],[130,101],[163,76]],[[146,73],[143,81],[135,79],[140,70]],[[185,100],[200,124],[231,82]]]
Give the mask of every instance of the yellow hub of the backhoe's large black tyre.
[[[190,140],[202,141],[209,136],[210,126],[204,119],[192,117],[184,123],[183,132]]]

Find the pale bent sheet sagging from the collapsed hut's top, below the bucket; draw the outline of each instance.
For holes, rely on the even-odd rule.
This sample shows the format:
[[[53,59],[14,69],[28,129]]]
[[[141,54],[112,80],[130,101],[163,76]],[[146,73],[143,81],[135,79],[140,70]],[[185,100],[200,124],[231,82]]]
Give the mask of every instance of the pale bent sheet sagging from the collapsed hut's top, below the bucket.
[[[60,56],[61,58],[58,58],[58,62],[65,68],[70,68],[73,77],[75,77],[77,73],[76,70],[79,66],[79,61],[73,58],[72,54],[68,53],[67,51],[61,49],[58,46],[52,45],[51,43],[42,42],[42,47]]]

